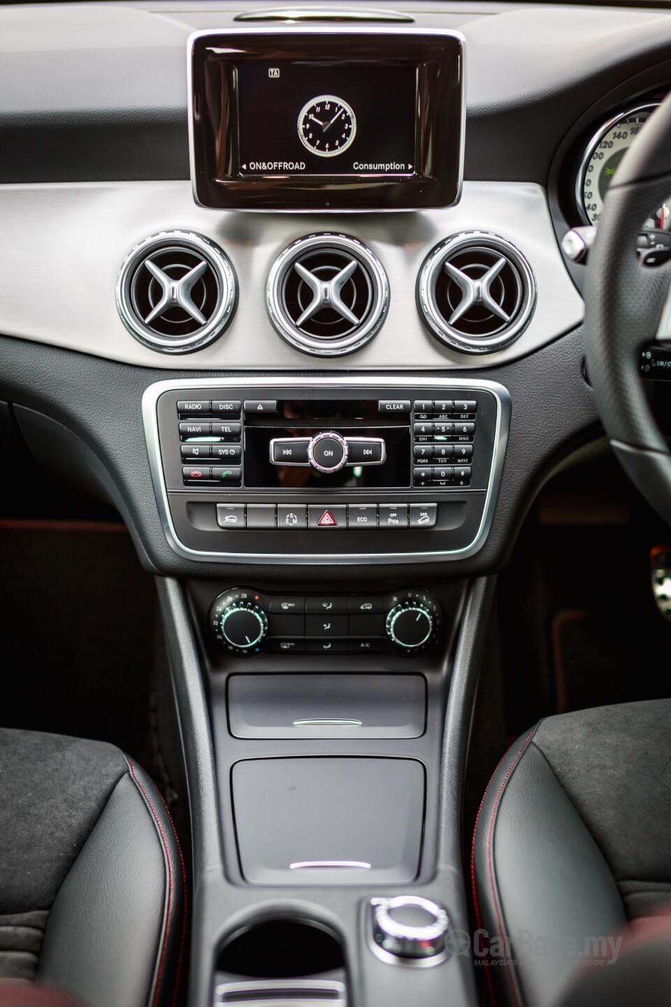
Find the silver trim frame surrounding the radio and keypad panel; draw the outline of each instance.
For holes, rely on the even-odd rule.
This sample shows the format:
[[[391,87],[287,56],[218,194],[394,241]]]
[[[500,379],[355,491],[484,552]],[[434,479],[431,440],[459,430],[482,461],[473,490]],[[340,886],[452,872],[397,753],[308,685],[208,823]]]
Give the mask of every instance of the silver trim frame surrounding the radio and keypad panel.
[[[375,388],[375,391],[379,390],[381,393],[385,389],[393,391],[396,388],[410,388],[417,389],[418,392],[426,390],[427,385],[431,384],[434,387],[445,387],[445,388],[463,388],[470,389],[473,391],[485,391],[490,392],[496,400],[496,429],[494,433],[494,447],[492,453],[492,466],[489,475],[489,484],[487,486],[487,492],[485,497],[485,507],[483,509],[482,520],[480,522],[480,527],[478,532],[473,539],[473,542],[463,549],[456,549],[453,551],[433,551],[431,549],[427,551],[417,551],[409,553],[388,553],[388,552],[372,552],[372,553],[303,553],[301,555],[294,555],[292,553],[227,553],[227,552],[205,552],[197,549],[189,549],[187,546],[181,542],[175,527],[172,522],[172,517],[170,515],[170,508],[168,505],[168,492],[165,485],[165,477],[163,474],[163,464],[161,459],[161,445],[159,441],[158,432],[158,415],[157,415],[157,403],[161,395],[164,392],[177,392],[182,389],[200,389],[200,388],[225,388],[225,389],[243,389],[243,388],[266,388],[273,387],[278,388],[282,386],[287,387],[305,387],[305,388],[331,388],[331,387],[342,387],[343,385],[348,388],[370,388],[371,386]],[[230,561],[236,564],[263,564],[263,563],[277,563],[279,565],[287,566],[322,566],[322,565],[333,565],[333,564],[347,564],[347,565],[363,565],[368,563],[380,563],[380,564],[390,564],[390,563],[437,563],[444,562],[445,560],[451,559],[468,559],[470,556],[474,556],[484,545],[485,540],[489,534],[489,530],[492,526],[492,521],[494,519],[494,509],[496,507],[496,501],[498,498],[499,487],[501,484],[501,476],[503,474],[503,462],[506,453],[506,447],[508,444],[508,431],[510,428],[510,413],[511,413],[511,401],[510,394],[503,385],[499,385],[497,382],[491,381],[473,381],[469,382],[466,379],[459,378],[432,378],[431,380],[423,379],[408,379],[400,377],[389,377],[380,378],[378,380],[372,379],[370,376],[351,376],[348,378],[341,378],[339,376],[333,376],[330,378],[316,378],[316,377],[300,377],[300,378],[290,378],[290,377],[275,377],[275,378],[198,378],[194,380],[180,379],[176,381],[162,381],[157,382],[154,385],[150,385],[149,388],[145,390],[142,397],[142,419],[145,428],[145,439],[147,442],[147,453],[149,456],[149,466],[152,473],[152,482],[154,484],[154,494],[156,496],[156,502],[158,506],[159,517],[161,520],[161,525],[163,526],[163,531],[165,537],[170,545],[171,549],[177,553],[178,556],[182,556],[184,559],[196,560],[201,563],[210,562],[225,562]],[[417,502],[422,500],[417,499]],[[431,536],[431,532],[423,533],[428,537]]]

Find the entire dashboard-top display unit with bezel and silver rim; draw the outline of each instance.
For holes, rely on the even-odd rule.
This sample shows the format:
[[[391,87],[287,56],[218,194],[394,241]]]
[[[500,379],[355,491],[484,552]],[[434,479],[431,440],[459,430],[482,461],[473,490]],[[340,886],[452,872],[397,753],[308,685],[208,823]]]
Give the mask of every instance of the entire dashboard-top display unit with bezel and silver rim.
[[[410,209],[459,199],[464,51],[455,32],[201,32],[189,71],[202,206]]]

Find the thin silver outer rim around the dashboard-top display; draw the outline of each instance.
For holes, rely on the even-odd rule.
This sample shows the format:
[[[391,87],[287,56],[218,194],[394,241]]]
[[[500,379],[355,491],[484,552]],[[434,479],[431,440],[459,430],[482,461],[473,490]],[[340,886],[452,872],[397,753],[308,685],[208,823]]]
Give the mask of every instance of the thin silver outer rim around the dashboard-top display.
[[[287,32],[287,28],[276,28],[275,33],[281,36],[283,33]],[[441,38],[456,38],[461,42],[462,46],[462,61],[463,65],[461,67],[462,76],[462,94],[461,94],[461,143],[459,150],[459,184],[457,186],[457,195],[455,196],[454,202],[450,203],[451,206],[456,206],[462,197],[462,188],[464,185],[464,157],[466,151],[466,74],[467,74],[467,60],[466,60],[466,36],[461,31],[455,31],[451,28],[409,28],[409,27],[396,27],[387,26],[385,24],[375,24],[371,27],[362,27],[357,25],[353,27],[351,25],[339,24],[337,27],[331,25],[316,25],[316,24],[297,24],[292,25],[292,31],[300,32],[301,34],[308,35],[378,35],[384,33],[385,35],[398,35],[400,38],[406,37],[410,34],[418,35],[433,35]],[[193,200],[197,206],[201,209],[209,209],[214,212],[220,213],[221,210],[214,206],[204,206],[200,202],[196,194],[196,177],[195,177],[195,156],[194,156],[194,146],[195,146],[195,136],[193,129],[193,45],[196,39],[205,38],[208,35],[268,35],[272,34],[274,29],[268,25],[264,27],[255,27],[249,25],[243,28],[205,28],[199,31],[194,31],[186,40],[186,89],[187,89],[187,119],[188,119],[188,137],[189,137],[189,171],[191,176],[191,190],[193,192]],[[264,213],[268,212],[264,207],[253,208],[250,206],[245,206],[242,209],[237,209],[235,212],[238,213]],[[275,210],[275,212],[286,213],[314,213],[313,207],[308,207],[307,209],[292,209],[288,206],[287,209]],[[336,212],[347,212],[347,213],[369,213],[370,207],[365,207],[362,209],[349,209],[342,210],[337,207],[330,209],[328,206],[323,206],[320,213],[336,213]],[[403,206],[392,206],[392,207],[382,207],[375,210],[376,213],[398,213],[398,212],[416,212],[416,207],[403,207]]]

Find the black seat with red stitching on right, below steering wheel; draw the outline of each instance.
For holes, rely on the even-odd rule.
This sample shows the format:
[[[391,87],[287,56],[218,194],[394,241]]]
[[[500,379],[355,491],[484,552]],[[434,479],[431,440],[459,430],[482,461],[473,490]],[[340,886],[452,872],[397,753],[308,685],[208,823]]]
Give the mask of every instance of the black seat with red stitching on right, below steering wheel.
[[[483,798],[473,877],[498,1003],[549,1007],[617,960],[628,923],[671,902],[671,700],[550,717],[520,738]]]

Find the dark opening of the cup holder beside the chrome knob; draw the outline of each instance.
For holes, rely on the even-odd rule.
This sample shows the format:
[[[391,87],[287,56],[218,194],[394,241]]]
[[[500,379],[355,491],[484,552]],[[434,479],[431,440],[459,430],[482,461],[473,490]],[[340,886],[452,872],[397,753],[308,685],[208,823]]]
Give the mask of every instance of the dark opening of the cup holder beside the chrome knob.
[[[269,919],[230,938],[219,953],[217,971],[247,979],[298,979],[344,965],[340,943],[318,923]]]

